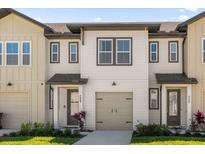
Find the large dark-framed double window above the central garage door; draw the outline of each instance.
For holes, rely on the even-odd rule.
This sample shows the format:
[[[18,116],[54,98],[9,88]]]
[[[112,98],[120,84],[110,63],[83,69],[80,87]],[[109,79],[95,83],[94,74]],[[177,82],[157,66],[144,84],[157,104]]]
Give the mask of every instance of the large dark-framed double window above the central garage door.
[[[98,65],[131,65],[131,38],[98,38]]]

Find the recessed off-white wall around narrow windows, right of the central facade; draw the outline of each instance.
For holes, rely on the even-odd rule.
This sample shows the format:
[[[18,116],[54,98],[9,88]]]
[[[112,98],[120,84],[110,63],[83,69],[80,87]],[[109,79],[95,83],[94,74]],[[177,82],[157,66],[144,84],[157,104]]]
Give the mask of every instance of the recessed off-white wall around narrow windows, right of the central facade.
[[[153,38],[149,41],[159,42],[158,63],[149,63],[149,88],[160,88],[156,82],[156,73],[182,73],[182,42],[183,38]],[[169,41],[178,41],[178,62],[169,63]],[[149,51],[148,51],[149,53]],[[159,98],[160,102],[160,98]],[[149,110],[149,122],[160,123],[160,103],[159,109]]]

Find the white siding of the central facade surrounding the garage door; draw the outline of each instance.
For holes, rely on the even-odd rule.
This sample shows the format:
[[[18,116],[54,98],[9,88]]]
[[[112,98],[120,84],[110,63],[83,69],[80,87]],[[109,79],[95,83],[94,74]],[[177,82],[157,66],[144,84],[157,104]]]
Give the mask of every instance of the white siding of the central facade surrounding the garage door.
[[[132,37],[132,66],[97,66],[98,37]],[[96,93],[132,92],[133,128],[148,118],[148,32],[142,31],[85,31],[81,46],[81,75],[88,78],[84,86],[86,127],[96,129]],[[86,52],[85,52],[86,51]],[[112,86],[113,81],[116,86]]]

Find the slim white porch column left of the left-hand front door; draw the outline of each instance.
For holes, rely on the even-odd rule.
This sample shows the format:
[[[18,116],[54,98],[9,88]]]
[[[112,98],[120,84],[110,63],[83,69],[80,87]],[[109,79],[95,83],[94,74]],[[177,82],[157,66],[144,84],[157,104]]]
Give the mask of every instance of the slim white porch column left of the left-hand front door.
[[[53,119],[54,119],[54,128],[59,128],[58,125],[58,87],[53,86]]]

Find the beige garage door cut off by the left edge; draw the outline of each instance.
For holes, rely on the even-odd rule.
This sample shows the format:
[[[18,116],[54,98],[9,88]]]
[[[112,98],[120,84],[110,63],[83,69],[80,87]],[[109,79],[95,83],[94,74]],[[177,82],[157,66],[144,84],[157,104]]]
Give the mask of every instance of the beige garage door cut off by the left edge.
[[[0,93],[0,112],[3,128],[20,128],[28,122],[27,93]]]

